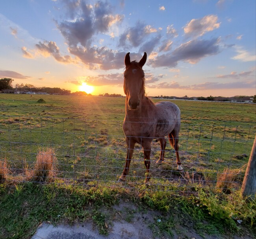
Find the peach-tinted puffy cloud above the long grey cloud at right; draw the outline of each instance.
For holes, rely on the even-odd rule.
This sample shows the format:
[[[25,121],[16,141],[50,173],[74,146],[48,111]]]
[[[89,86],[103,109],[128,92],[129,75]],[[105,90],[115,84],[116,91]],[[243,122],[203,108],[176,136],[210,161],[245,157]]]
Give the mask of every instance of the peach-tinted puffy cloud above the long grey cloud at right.
[[[184,33],[192,37],[202,36],[208,31],[219,28],[220,22],[216,15],[208,15],[199,19],[192,19],[185,27]]]

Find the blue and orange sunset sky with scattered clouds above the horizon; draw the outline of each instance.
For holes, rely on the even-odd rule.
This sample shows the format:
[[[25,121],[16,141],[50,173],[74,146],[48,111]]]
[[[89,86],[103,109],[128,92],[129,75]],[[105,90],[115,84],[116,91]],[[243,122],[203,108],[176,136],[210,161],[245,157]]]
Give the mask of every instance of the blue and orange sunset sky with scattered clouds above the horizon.
[[[256,94],[255,0],[0,0],[0,78],[122,94],[124,57],[148,96]],[[90,86],[90,87],[88,87]]]

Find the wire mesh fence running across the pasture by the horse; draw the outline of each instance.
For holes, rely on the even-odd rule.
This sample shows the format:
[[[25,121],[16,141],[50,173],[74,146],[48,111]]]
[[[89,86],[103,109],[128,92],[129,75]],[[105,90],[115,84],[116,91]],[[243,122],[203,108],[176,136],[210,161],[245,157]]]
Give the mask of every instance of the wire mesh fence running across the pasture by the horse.
[[[252,125],[188,123],[183,119],[179,153],[184,170],[176,169],[176,154],[170,144],[164,162],[155,163],[160,157],[160,144],[154,139],[147,186],[175,191],[238,188],[255,134]],[[0,116],[0,175],[8,180],[143,186],[145,165],[140,145],[135,145],[127,182],[117,182],[126,151],[122,120]]]

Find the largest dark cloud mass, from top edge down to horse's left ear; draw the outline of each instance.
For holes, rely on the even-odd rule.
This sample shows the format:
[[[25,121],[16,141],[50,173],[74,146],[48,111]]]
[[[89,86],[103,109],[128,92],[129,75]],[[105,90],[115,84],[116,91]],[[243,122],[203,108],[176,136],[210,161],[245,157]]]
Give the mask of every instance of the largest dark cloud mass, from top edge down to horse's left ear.
[[[97,1],[94,5],[86,1],[65,0],[67,16],[70,20],[57,22],[57,27],[69,45],[69,52],[91,69],[119,69],[123,67],[124,52],[106,47],[91,46],[93,37],[98,33],[107,33],[113,24],[122,22],[122,15],[113,15],[113,7],[108,2]],[[69,61],[67,56],[58,61]],[[121,60],[122,57],[122,60]]]

